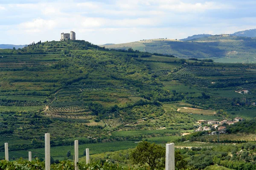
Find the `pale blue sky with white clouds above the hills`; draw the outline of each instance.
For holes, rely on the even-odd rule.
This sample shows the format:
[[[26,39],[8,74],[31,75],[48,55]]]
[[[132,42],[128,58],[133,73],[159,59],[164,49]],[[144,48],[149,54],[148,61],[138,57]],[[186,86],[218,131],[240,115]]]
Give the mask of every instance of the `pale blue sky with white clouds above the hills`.
[[[0,44],[182,39],[256,28],[255,0],[0,0]]]

